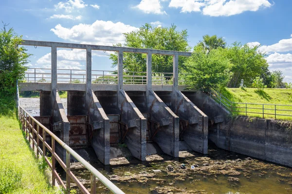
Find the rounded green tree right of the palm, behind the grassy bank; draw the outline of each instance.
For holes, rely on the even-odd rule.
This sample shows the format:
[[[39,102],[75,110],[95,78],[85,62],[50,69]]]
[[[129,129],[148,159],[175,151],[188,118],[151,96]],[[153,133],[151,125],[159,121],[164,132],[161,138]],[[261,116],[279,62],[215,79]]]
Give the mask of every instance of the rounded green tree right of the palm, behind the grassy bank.
[[[241,43],[233,43],[226,50],[226,57],[233,64],[231,72],[233,76],[228,84],[229,87],[239,87],[240,80],[250,87],[257,76],[266,71],[268,63],[265,55],[257,50],[258,46],[250,47]]]

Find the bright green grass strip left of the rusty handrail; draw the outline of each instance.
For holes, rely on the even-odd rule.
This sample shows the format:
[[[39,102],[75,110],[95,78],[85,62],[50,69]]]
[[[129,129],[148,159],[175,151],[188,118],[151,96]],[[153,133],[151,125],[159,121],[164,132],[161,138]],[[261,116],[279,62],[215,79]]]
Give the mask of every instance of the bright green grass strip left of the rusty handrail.
[[[13,96],[0,94],[0,194],[55,194],[46,163],[35,158],[16,117]]]

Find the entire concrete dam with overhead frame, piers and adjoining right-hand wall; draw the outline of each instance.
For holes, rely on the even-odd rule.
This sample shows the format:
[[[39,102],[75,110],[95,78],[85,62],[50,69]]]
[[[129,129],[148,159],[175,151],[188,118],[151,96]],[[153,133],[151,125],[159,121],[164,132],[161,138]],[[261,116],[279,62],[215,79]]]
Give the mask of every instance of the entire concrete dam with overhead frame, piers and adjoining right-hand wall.
[[[51,47],[51,68],[27,72],[19,90],[40,91],[35,118],[85,160],[109,165],[120,157],[121,145],[140,161],[159,153],[179,157],[183,150],[207,154],[209,140],[228,151],[292,167],[292,125],[233,118],[211,94],[187,90],[178,59],[190,52],[30,40],[23,45]],[[86,70],[58,69],[57,48],[86,49]],[[92,70],[92,50],[117,52],[117,71]],[[146,54],[146,72],[124,71],[124,52]],[[172,55],[173,73],[152,72],[154,54]],[[67,109],[60,91],[67,91]],[[51,144],[50,136],[46,142]],[[65,161],[66,151],[59,145],[55,149]]]

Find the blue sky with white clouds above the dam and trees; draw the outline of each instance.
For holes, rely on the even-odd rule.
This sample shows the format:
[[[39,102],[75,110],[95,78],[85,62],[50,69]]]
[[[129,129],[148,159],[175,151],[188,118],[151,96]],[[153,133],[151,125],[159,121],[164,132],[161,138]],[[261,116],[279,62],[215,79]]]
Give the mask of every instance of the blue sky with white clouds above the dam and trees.
[[[0,20],[26,40],[113,45],[145,23],[187,29],[228,44],[260,45],[270,70],[292,82],[292,0],[0,0]],[[50,68],[51,49],[27,47],[31,68]],[[115,70],[110,53],[92,51],[93,70]],[[85,69],[85,50],[58,49],[57,68]],[[42,72],[43,70],[38,70]]]

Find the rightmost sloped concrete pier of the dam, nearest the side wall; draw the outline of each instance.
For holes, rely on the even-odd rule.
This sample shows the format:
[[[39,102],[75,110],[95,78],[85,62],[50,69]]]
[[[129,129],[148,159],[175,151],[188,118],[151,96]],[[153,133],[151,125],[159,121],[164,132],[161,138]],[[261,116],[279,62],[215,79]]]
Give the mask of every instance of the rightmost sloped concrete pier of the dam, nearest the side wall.
[[[202,154],[208,153],[208,116],[204,114],[194,103],[185,97],[180,91],[155,92],[170,109],[180,117],[180,140],[194,151]]]

